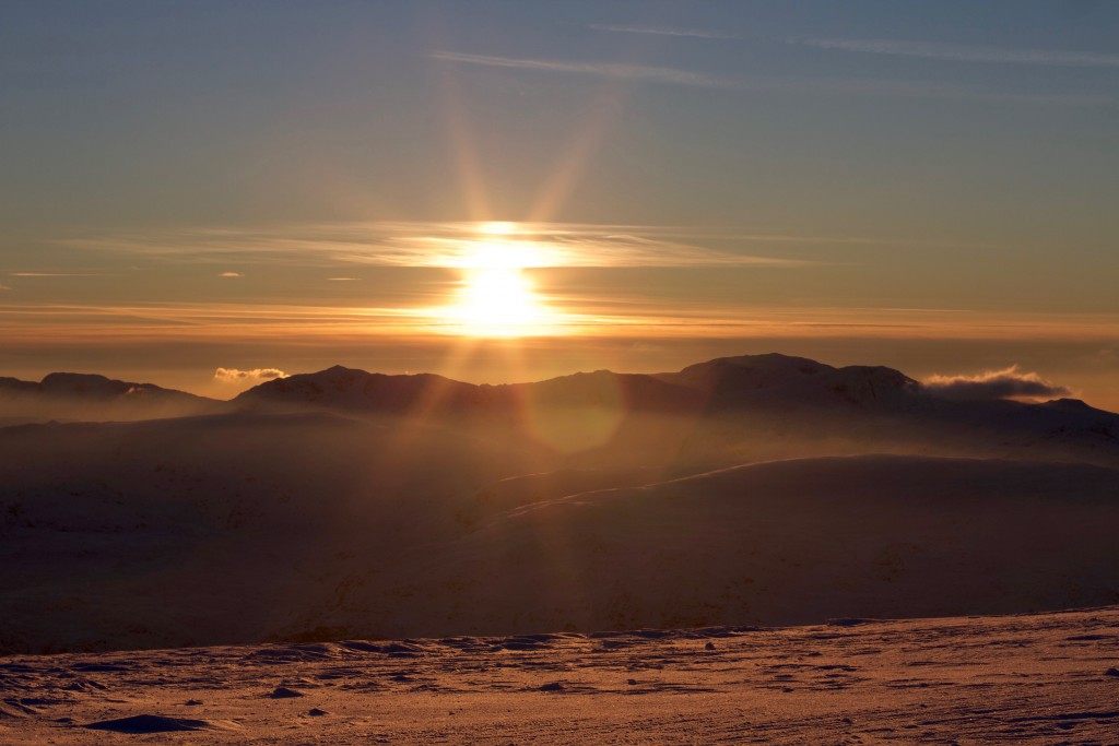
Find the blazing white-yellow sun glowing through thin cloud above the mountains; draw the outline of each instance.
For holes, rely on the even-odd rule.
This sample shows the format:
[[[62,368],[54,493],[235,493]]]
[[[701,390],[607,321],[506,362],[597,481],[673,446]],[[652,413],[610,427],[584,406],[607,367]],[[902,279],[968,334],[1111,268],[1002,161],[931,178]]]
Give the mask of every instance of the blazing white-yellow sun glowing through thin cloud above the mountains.
[[[454,303],[443,313],[454,331],[471,337],[554,333],[556,314],[525,272],[536,265],[537,254],[527,242],[485,239],[468,244]]]

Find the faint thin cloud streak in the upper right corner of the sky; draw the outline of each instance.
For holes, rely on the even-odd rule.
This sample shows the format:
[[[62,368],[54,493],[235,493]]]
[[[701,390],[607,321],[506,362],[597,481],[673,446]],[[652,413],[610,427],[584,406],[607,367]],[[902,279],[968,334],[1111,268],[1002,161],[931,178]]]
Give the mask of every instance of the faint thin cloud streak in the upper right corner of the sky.
[[[989,63],[998,65],[1051,65],[1057,67],[1119,67],[1119,55],[1099,51],[1064,51],[1057,49],[1015,49],[982,47],[935,41],[897,39],[791,38],[789,44],[839,49],[873,55],[920,57],[951,63]]]

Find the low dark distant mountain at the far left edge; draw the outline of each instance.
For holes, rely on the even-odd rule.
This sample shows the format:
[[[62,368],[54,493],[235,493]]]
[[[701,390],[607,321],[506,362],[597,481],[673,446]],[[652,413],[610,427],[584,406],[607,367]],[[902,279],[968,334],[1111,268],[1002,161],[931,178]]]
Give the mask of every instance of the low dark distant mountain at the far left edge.
[[[41,381],[0,378],[6,419],[151,419],[218,412],[223,403],[154,384],[53,372]]]

